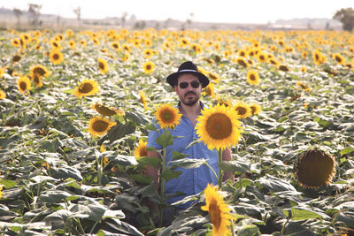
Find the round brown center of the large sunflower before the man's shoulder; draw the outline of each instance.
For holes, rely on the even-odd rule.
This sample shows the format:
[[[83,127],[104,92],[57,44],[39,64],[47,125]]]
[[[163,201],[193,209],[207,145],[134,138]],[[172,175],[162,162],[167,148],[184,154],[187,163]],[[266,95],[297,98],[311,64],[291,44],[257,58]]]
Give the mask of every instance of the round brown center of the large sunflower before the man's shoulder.
[[[225,114],[215,113],[206,121],[206,132],[216,140],[227,138],[232,132],[232,123]]]

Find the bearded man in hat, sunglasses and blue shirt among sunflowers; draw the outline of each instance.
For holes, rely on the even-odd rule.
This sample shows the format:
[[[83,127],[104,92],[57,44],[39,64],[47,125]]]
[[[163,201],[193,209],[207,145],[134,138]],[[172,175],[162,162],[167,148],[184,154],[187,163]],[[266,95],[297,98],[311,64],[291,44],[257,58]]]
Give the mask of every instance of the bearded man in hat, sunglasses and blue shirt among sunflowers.
[[[201,115],[201,110],[204,109],[204,104],[199,101],[202,89],[209,84],[209,79],[201,72],[198,71],[195,64],[190,61],[184,62],[178,68],[178,72],[170,74],[166,78],[167,82],[174,88],[175,93],[179,96],[180,102],[178,108],[182,114],[180,124],[177,125],[172,131],[173,136],[182,136],[182,138],[173,139],[173,145],[167,146],[166,149],[166,164],[171,161],[172,152],[178,151],[187,154],[185,158],[208,160],[208,164],[212,166],[215,173],[219,173],[219,157],[216,149],[210,150],[203,142],[186,148],[192,141],[199,139],[196,134],[196,118]],[[158,125],[156,125],[158,127]],[[160,129],[158,127],[158,129]],[[159,130],[160,133],[163,130]],[[148,147],[162,149],[156,139],[160,133],[150,131],[148,138]],[[159,156],[157,151],[148,151],[148,156]],[[223,151],[222,158],[224,161],[231,159],[231,151],[229,148]],[[147,174],[155,179],[158,183],[158,172],[152,166],[147,167]],[[173,196],[167,200],[168,204],[177,202],[187,195],[198,194],[204,190],[208,183],[213,183],[214,186],[218,185],[212,170],[206,165],[202,165],[196,169],[183,169],[178,168],[175,171],[182,171],[178,179],[171,179],[166,183],[165,194],[175,194],[180,191],[185,195]],[[232,178],[230,172],[224,173],[224,180]],[[187,209],[190,203],[179,204],[176,206],[178,209]]]

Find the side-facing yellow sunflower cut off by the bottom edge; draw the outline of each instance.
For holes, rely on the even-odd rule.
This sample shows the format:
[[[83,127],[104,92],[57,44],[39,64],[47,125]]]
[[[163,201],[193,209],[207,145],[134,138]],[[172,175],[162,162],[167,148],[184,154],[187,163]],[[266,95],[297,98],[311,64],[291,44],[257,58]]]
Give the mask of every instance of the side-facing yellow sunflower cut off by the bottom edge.
[[[231,232],[228,226],[231,225],[230,219],[234,219],[228,211],[227,203],[224,202],[223,197],[219,194],[218,187],[213,187],[212,184],[204,190],[205,206],[201,209],[208,211],[210,220],[212,222],[212,236],[229,235]]]

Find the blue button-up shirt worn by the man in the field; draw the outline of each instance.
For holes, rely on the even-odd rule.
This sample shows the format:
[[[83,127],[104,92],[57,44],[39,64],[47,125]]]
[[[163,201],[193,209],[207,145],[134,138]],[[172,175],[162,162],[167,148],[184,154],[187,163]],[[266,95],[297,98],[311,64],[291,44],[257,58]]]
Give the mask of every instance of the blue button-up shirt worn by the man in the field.
[[[180,102],[181,103],[181,102]],[[202,109],[204,108],[203,103],[201,103]],[[163,133],[164,130],[160,129],[157,123],[155,126],[160,133]],[[189,118],[182,115],[180,124],[175,126],[174,129],[169,129],[172,136],[183,136],[182,138],[174,138],[173,145],[167,146],[166,148],[166,164],[168,165],[172,158],[173,151],[177,151],[183,154],[187,154],[184,158],[192,159],[206,159],[208,164],[212,166],[212,169],[217,175],[219,175],[219,156],[216,149],[210,150],[207,148],[203,142],[198,142],[195,145],[186,147],[192,142],[199,139],[199,136],[196,134],[196,128],[193,126]],[[160,135],[156,131],[150,131],[148,137],[148,147],[153,147],[156,149],[162,149],[163,147],[156,143],[156,139]],[[208,166],[203,164],[199,168],[195,169],[184,169],[176,168],[173,171],[181,171],[181,175],[178,179],[171,179],[166,183],[165,194],[174,194],[177,191],[181,191],[186,195],[173,196],[167,200],[168,204],[177,202],[188,195],[198,194],[202,192],[209,183],[213,183],[214,186],[218,185],[218,180],[215,178],[215,175],[212,173],[212,170]],[[191,203],[191,202],[190,202]],[[189,204],[180,204],[179,208],[186,209],[190,206]]]

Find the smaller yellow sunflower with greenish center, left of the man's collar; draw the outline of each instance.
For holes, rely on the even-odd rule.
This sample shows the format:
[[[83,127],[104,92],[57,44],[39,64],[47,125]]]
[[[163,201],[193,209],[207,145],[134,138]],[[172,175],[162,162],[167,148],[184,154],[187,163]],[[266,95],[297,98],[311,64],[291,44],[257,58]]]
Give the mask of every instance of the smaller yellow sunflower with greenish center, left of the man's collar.
[[[158,125],[164,129],[167,127],[174,128],[174,126],[180,124],[182,115],[177,108],[169,104],[162,104],[158,106],[155,116],[158,120]]]

